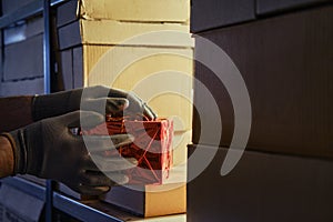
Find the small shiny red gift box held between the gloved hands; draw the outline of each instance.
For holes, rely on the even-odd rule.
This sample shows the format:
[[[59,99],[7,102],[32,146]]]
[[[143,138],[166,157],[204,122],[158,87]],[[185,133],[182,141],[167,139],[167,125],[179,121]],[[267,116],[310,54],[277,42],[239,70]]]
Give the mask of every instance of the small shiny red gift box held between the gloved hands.
[[[130,181],[128,184],[162,184],[169,178],[172,165],[173,122],[167,119],[139,121],[107,118],[100,124],[83,134],[109,135],[129,133],[134,137],[133,143],[118,148],[123,158],[135,158],[137,168],[125,170]],[[108,130],[108,132],[105,131]],[[113,155],[110,150],[104,155]]]

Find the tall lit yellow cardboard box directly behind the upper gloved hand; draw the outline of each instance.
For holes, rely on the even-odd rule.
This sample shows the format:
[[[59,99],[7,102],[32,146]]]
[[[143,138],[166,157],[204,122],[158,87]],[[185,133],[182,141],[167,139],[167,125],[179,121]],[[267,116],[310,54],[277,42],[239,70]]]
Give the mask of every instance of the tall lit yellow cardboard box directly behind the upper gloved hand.
[[[192,49],[83,46],[83,61],[89,61],[84,83],[134,91],[159,117],[179,117],[182,122],[175,121],[175,131],[186,131],[192,125],[192,104],[185,97],[192,98],[193,64],[183,57],[192,58]]]

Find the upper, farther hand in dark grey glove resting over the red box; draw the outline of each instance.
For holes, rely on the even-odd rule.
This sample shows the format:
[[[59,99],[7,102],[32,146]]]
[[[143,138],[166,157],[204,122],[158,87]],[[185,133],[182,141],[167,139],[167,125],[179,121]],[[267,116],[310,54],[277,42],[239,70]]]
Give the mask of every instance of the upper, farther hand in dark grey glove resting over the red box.
[[[32,100],[33,121],[75,110],[122,115],[124,109],[130,114],[143,114],[149,120],[157,118],[153,111],[134,93],[102,85],[36,95]]]

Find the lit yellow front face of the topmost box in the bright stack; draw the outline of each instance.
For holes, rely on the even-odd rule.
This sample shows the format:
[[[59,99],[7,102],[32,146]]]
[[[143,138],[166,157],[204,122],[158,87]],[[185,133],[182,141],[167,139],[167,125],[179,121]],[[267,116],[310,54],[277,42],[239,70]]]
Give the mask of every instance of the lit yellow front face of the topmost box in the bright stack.
[[[189,0],[80,0],[80,17],[117,21],[188,22]]]

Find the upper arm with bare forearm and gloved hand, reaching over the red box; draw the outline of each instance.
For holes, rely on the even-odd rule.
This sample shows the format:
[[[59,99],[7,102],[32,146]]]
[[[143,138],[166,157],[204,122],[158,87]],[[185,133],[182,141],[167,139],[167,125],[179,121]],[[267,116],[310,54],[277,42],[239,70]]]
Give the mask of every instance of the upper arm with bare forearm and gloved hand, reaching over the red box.
[[[155,113],[134,93],[102,85],[74,89],[43,95],[0,98],[0,132],[8,132],[44,118],[77,110],[101,114],[141,114],[155,119]]]

